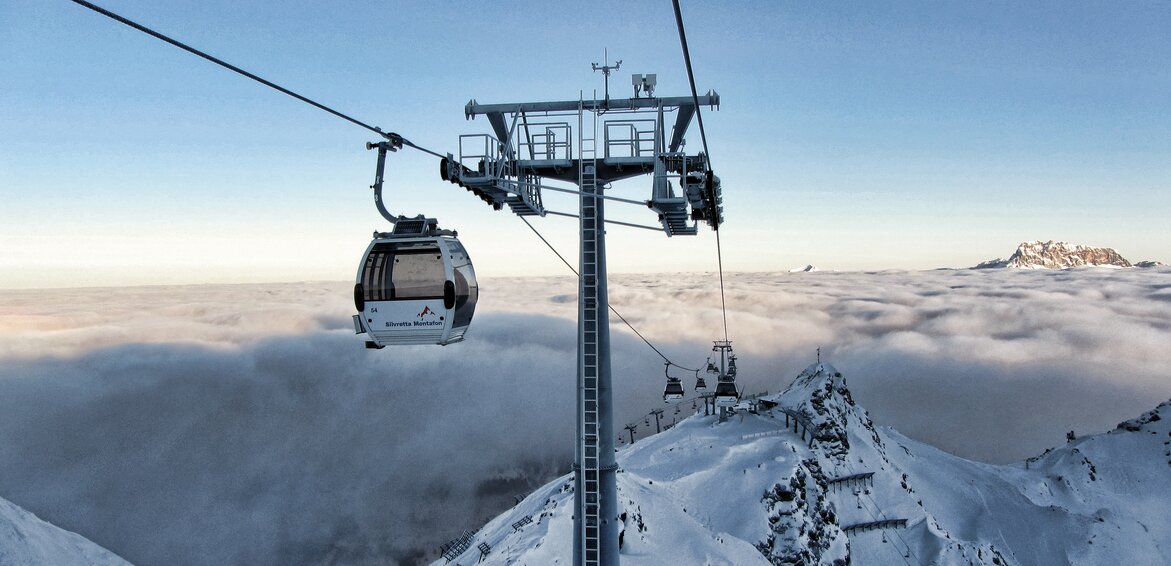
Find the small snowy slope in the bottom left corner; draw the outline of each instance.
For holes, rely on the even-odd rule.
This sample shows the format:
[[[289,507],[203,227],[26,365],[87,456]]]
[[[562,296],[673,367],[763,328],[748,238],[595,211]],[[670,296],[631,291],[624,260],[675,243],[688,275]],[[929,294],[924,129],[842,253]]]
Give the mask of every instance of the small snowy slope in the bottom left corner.
[[[130,562],[0,498],[0,566],[121,566]]]

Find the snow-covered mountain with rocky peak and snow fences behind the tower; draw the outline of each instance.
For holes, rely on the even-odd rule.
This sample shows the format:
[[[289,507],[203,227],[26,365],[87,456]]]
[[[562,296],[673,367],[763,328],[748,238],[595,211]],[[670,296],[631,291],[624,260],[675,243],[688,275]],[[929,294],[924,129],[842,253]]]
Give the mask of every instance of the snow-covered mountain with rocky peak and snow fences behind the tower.
[[[1171,402],[1014,465],[876,428],[828,363],[618,451],[622,562],[1171,564]],[[573,564],[563,476],[448,546]],[[446,564],[440,559],[436,564]]]

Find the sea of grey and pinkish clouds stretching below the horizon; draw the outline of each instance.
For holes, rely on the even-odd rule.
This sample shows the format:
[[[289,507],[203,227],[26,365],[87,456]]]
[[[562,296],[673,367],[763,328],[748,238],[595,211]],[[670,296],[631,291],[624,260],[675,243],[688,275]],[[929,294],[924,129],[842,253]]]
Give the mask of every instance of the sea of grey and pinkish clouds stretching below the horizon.
[[[1020,461],[1171,397],[1171,268],[726,284],[742,390],[820,347],[878,424],[964,457]],[[575,280],[488,279],[465,342],[383,350],[354,335],[349,288],[0,292],[0,497],[143,565],[416,564],[569,470]],[[714,274],[611,278],[686,367],[723,339],[720,300]],[[663,362],[614,322],[637,441]]]

